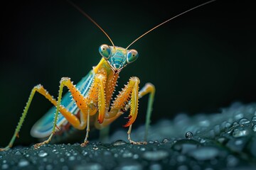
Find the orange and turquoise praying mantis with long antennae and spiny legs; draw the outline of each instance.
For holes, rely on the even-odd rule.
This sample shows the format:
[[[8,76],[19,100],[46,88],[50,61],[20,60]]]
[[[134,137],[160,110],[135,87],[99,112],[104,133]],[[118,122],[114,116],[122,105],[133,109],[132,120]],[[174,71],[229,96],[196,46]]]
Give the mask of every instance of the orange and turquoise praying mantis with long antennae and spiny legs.
[[[188,11],[200,6],[204,6],[213,1],[208,1],[183,13],[187,13]],[[80,13],[86,16],[90,21],[92,21],[92,23],[100,28],[103,33],[105,33],[105,30],[103,30],[92,18],[90,18],[87,13],[82,11],[72,2],[70,2],[70,4],[77,8]],[[183,15],[183,13],[180,13],[177,16],[160,23],[151,30],[154,30],[172,19]],[[109,35],[105,33],[112,45],[103,44],[100,46],[99,52],[100,55],[102,55],[102,59],[100,60],[99,64],[93,67],[87,76],[83,77],[76,86],[69,77],[63,77],[60,80],[60,89],[57,100],[53,98],[53,96],[51,96],[41,84],[35,86],[31,90],[31,95],[28,98],[28,102],[24,108],[21,119],[18,122],[18,126],[13,137],[11,138],[11,141],[9,142],[9,145],[1,148],[0,150],[4,151],[9,149],[14,144],[14,140],[18,136],[18,132],[21,130],[21,125],[25,120],[26,114],[28,113],[28,108],[31,106],[33,96],[36,93],[39,93],[47,98],[48,101],[53,104],[53,108],[51,108],[48,113],[46,113],[46,115],[33,126],[31,130],[31,135],[34,137],[48,137],[48,140],[34,145],[35,149],[41,147],[42,145],[48,144],[53,135],[55,135],[55,132],[61,130],[63,126],[69,123],[78,130],[83,130],[86,128],[87,132],[85,135],[85,140],[81,144],[82,147],[85,147],[89,142],[88,137],[91,122],[95,123],[94,125],[96,128],[101,129],[107,125],[110,125],[110,123],[127,111],[129,111],[129,121],[126,125],[124,125],[124,127],[129,127],[127,132],[129,142],[134,145],[145,145],[146,137],[145,141],[136,142],[132,140],[130,134],[132,131],[132,124],[137,118],[139,98],[149,94],[145,125],[145,134],[147,133],[154,101],[154,85],[148,83],[139,90],[139,78],[131,77],[127,85],[124,86],[124,89],[120,91],[117,98],[113,101],[112,95],[117,84],[117,79],[119,78],[119,72],[121,72],[122,69],[128,64],[131,64],[137,60],[139,57],[138,52],[136,50],[129,50],[129,47],[134,44],[134,42],[137,42],[137,40],[144,37],[144,35],[151,32],[151,30],[139,36],[139,38],[130,43],[126,48],[117,47],[114,45],[114,42],[112,42]],[[65,95],[63,94],[64,87],[68,88],[69,90],[69,92]]]

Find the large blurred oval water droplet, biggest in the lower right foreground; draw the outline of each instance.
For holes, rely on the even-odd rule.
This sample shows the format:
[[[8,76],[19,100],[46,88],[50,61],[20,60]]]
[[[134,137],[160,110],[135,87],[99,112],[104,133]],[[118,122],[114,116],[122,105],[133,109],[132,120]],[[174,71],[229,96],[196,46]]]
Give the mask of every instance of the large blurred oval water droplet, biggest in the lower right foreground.
[[[199,161],[204,161],[217,157],[219,151],[215,147],[199,147],[198,149],[193,149],[189,154]]]

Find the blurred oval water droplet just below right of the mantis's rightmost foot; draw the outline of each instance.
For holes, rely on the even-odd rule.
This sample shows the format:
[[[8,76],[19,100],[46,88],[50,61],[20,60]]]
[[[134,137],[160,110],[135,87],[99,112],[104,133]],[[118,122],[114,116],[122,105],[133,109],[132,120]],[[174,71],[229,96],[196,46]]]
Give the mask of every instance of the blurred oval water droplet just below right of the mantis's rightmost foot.
[[[147,159],[149,161],[159,161],[161,159],[164,159],[169,156],[169,153],[165,150],[157,150],[157,151],[146,151],[142,155],[144,159]]]

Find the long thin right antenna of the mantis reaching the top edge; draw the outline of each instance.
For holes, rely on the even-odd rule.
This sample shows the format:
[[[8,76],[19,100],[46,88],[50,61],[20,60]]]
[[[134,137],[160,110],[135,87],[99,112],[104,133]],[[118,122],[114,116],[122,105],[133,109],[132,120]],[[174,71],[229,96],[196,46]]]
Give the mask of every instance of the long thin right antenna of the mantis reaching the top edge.
[[[132,44],[134,44],[134,42],[137,42],[137,40],[139,40],[140,38],[144,37],[144,35],[150,33],[152,30],[155,30],[156,28],[159,28],[159,26],[164,25],[165,23],[167,23],[167,22],[173,20],[174,18],[177,18],[178,16],[181,16],[181,15],[183,15],[183,14],[185,14],[185,13],[188,13],[189,11],[192,11],[193,9],[199,8],[199,7],[204,6],[204,5],[206,5],[206,4],[210,4],[210,3],[213,2],[213,1],[216,1],[216,0],[207,1],[207,2],[205,2],[205,3],[203,3],[203,4],[200,4],[200,5],[198,5],[198,6],[195,6],[195,7],[193,7],[193,8],[188,9],[187,11],[184,11],[183,13],[179,13],[178,15],[176,15],[176,16],[174,16],[174,17],[172,17],[172,18],[169,18],[168,20],[164,21],[163,23],[160,23],[159,25],[155,26],[154,28],[151,28],[150,30],[146,31],[146,33],[140,35],[139,38],[137,38],[137,39],[134,40],[132,43],[130,43],[130,44],[126,47],[126,49],[128,49]]]

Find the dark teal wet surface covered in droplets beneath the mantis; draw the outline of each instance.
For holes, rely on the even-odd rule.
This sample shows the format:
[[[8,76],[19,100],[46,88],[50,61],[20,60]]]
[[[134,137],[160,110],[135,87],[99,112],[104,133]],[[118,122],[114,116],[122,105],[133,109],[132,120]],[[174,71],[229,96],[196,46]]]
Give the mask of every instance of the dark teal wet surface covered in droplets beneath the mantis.
[[[142,140],[144,127],[132,132]],[[0,153],[1,169],[256,169],[256,104],[234,103],[221,113],[179,114],[152,125],[148,145],[130,145],[125,131],[87,147],[14,147]],[[115,142],[111,142],[115,141]]]

